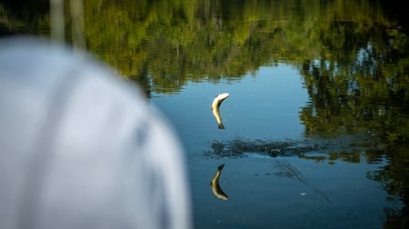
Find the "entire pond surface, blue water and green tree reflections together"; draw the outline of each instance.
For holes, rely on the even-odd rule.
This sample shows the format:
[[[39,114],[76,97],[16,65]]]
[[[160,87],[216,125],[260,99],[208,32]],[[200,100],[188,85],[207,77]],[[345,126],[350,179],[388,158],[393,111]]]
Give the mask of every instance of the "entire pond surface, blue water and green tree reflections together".
[[[47,1],[0,1],[0,35],[51,34],[141,85],[185,145],[195,228],[408,227],[404,6],[63,6],[59,15]],[[221,93],[230,94],[220,106],[224,129],[210,110]],[[219,188],[228,200],[210,185],[221,164]]]

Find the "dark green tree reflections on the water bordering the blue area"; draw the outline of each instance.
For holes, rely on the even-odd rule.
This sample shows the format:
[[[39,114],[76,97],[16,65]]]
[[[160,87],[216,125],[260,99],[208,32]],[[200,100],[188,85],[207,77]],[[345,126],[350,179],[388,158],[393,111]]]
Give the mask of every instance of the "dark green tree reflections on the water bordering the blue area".
[[[147,96],[177,93],[186,82],[240,80],[262,65],[294,65],[310,97],[299,115],[305,135],[371,136],[376,149],[364,151],[366,162],[385,156],[389,164],[368,177],[383,183],[391,198],[400,196],[405,204],[403,209],[385,210],[384,226],[407,226],[409,28],[396,3],[87,0],[83,4],[79,7],[83,12],[75,12],[77,7],[70,11],[70,2],[65,1],[65,42],[75,45],[81,37],[82,46],[142,85]],[[394,14],[386,14],[384,9],[391,7]],[[0,13],[1,35],[49,35],[47,1],[0,1]],[[78,35],[82,29],[69,29],[78,28],[74,15],[84,16],[80,18],[84,35]],[[359,162],[359,151],[347,152],[328,154],[326,159]]]

